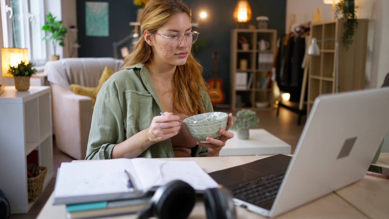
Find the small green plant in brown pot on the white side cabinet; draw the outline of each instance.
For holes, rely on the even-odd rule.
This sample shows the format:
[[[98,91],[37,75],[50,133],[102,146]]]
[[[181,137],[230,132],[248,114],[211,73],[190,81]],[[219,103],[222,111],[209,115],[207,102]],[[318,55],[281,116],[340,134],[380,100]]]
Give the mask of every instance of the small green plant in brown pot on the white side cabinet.
[[[30,89],[30,77],[37,72],[37,69],[33,68],[34,65],[32,62],[26,64],[24,61],[15,66],[9,65],[8,73],[14,76],[16,90]]]

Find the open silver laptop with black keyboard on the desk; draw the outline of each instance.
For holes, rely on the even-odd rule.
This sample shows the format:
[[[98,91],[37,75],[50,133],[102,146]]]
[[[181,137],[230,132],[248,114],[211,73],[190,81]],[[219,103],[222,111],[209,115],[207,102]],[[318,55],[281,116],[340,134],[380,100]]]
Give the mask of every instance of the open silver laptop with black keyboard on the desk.
[[[210,173],[235,205],[275,217],[364,177],[389,127],[389,88],[316,98],[293,157]],[[267,197],[267,198],[266,198]]]

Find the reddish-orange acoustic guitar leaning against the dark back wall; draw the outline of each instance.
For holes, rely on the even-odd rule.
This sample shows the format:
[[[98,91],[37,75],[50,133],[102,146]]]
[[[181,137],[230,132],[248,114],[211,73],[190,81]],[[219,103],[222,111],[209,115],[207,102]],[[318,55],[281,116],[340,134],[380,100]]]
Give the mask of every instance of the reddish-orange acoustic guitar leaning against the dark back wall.
[[[212,53],[212,58],[214,60],[214,78],[211,78],[208,81],[208,95],[211,99],[212,104],[221,104],[224,102],[225,95],[222,90],[223,82],[221,81],[221,79],[217,78],[217,52]]]

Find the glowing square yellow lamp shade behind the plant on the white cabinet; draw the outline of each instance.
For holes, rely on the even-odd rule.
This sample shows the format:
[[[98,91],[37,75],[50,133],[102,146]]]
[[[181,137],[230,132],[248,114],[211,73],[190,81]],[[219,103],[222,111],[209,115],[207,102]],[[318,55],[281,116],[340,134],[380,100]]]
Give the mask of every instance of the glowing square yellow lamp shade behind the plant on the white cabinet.
[[[28,63],[28,49],[1,48],[1,64],[4,77],[12,77],[8,74],[9,65],[18,65],[21,61]]]

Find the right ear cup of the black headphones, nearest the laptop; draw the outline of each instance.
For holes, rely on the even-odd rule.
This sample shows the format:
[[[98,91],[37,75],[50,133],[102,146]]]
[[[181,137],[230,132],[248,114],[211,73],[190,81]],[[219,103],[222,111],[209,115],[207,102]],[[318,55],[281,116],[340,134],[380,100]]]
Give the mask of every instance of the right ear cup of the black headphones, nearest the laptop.
[[[235,205],[224,188],[206,189],[203,194],[207,219],[236,219]]]

